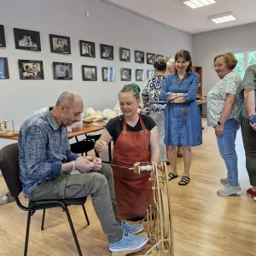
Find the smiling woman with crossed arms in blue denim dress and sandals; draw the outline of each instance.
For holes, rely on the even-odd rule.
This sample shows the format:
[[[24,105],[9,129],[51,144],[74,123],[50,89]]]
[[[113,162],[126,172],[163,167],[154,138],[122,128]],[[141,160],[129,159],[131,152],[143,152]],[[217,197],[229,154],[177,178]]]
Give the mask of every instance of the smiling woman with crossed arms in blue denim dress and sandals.
[[[191,71],[192,61],[188,50],[175,55],[175,73],[163,82],[160,98],[167,101],[165,109],[165,144],[172,172],[169,179],[177,177],[177,145],[182,145],[184,172],[179,185],[190,181],[191,147],[202,143],[201,113],[196,103],[199,75]]]

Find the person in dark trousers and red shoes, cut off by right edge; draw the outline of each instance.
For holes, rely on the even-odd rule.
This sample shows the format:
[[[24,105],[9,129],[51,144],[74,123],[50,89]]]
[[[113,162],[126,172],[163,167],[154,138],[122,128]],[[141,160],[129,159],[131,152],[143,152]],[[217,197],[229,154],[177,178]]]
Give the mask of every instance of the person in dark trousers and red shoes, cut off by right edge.
[[[246,153],[247,172],[253,186],[247,189],[247,195],[256,201],[256,65],[247,67],[241,86],[245,101],[241,108],[241,135]]]

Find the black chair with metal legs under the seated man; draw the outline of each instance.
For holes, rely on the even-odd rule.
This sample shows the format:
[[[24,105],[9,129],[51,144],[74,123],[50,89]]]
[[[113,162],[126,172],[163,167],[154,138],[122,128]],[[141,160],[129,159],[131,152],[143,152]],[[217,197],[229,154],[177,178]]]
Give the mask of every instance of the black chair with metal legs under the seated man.
[[[26,241],[24,248],[24,256],[27,254],[28,238],[29,238],[29,229],[31,217],[37,210],[44,210],[41,230],[44,230],[44,217],[45,210],[54,207],[61,207],[64,212],[67,214],[67,220],[70,225],[70,228],[73,233],[73,239],[76,243],[76,246],[79,251],[79,256],[82,256],[82,252],[79,246],[79,241],[76,235],[76,232],[73,228],[73,222],[68,212],[68,206],[71,205],[80,205],[83,207],[84,215],[87,221],[87,224],[90,225],[87,212],[84,208],[84,203],[87,197],[77,198],[77,199],[67,199],[67,200],[44,200],[44,201],[29,201],[28,207],[23,206],[20,203],[19,195],[22,191],[22,186],[19,177],[19,148],[18,144],[10,144],[5,146],[0,150],[0,169],[3,173],[3,178],[8,186],[10,194],[15,198],[15,202],[21,210],[28,212],[27,214],[27,223],[26,223]]]

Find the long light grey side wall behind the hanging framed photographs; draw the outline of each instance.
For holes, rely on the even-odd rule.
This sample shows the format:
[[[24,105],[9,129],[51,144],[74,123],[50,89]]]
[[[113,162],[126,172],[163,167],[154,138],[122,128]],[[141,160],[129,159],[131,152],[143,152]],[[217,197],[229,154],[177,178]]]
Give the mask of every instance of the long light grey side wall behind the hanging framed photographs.
[[[0,56],[8,57],[9,80],[0,81],[0,119],[14,120],[16,126],[32,115],[35,109],[54,105],[65,90],[75,90],[84,99],[84,107],[113,108],[118,91],[125,82],[120,81],[120,67],[153,69],[147,64],[134,62],[134,49],[172,56],[177,49],[192,50],[192,36],[171,26],[131,14],[100,0],[0,0],[0,24],[6,34],[6,49]],[[90,12],[90,18],[85,17]],[[41,52],[15,49],[13,28],[40,32]],[[72,55],[50,53],[49,33],[69,36]],[[79,54],[79,39],[96,43],[96,58]],[[114,61],[101,60],[99,44],[114,46]],[[119,47],[131,49],[131,62],[119,61]],[[18,59],[44,61],[44,80],[21,81]],[[73,81],[53,79],[52,61],[73,63]],[[81,65],[97,66],[98,81],[82,81]],[[113,83],[102,82],[102,67],[115,67]],[[127,83],[127,82],[126,82]],[[143,87],[144,82],[137,82]],[[0,140],[1,148],[1,140]]]

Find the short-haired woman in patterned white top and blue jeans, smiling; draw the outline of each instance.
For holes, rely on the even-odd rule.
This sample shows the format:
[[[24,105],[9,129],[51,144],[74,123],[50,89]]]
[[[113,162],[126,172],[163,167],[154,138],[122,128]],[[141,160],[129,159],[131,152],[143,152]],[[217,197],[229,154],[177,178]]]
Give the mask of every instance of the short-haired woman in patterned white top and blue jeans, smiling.
[[[218,83],[207,95],[207,122],[215,129],[218,150],[224,159],[228,174],[220,182],[226,185],[218,190],[218,195],[241,195],[238,182],[236,131],[239,130],[239,112],[242,103],[241,78],[233,71],[237,60],[232,53],[214,58]]]

